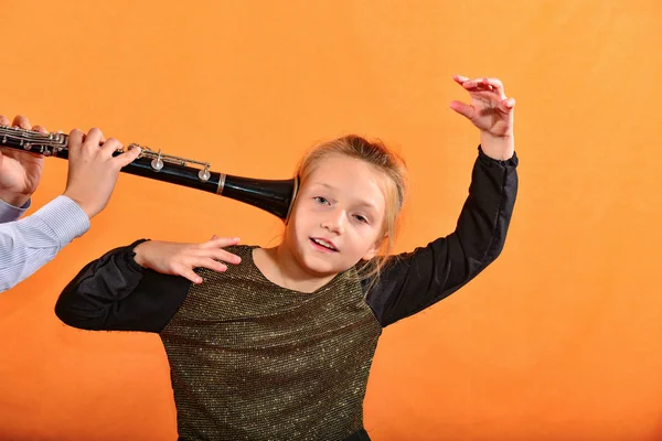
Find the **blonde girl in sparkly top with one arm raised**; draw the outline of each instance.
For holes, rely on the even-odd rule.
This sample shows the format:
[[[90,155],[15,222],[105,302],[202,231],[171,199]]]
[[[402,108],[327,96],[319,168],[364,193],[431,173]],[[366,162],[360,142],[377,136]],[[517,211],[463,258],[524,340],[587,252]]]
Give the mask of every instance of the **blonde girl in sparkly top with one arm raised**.
[[[88,263],[57,316],[159,333],[180,440],[370,440],[363,398],[382,329],[492,262],[515,202],[514,100],[498,79],[453,78],[471,104],[451,108],[481,133],[455,233],[386,259],[403,164],[378,143],[344,137],[303,158],[278,246],[138,240]]]

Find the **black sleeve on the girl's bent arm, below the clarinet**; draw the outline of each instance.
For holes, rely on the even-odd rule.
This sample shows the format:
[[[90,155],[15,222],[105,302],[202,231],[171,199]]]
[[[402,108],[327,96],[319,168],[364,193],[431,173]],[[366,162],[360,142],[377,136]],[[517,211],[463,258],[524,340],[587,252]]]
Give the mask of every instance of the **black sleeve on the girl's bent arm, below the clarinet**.
[[[145,269],[134,248],[116,248],[89,262],[66,286],[55,314],[84,330],[160,332],[184,301],[191,281]]]

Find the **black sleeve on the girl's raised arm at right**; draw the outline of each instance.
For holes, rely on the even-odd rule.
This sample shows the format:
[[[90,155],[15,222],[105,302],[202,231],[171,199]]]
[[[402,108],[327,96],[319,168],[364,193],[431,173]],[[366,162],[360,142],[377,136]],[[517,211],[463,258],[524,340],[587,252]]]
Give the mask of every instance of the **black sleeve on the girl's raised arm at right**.
[[[498,161],[479,147],[469,196],[456,230],[412,252],[392,256],[366,301],[382,326],[450,295],[490,265],[503,249],[517,194],[517,157]]]

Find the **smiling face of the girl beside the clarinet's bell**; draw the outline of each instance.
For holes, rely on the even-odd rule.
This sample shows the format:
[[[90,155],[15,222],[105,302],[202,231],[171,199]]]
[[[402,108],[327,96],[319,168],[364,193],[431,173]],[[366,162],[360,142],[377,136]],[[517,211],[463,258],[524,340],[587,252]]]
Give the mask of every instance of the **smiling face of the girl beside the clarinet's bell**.
[[[383,238],[386,178],[364,161],[330,154],[301,186],[284,235],[298,265],[318,277],[371,259]]]

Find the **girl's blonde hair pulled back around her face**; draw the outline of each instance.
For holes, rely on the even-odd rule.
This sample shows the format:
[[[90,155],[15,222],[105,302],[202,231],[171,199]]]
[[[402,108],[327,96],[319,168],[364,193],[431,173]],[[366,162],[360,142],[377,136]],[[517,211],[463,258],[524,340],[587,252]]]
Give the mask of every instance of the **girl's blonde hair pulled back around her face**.
[[[300,183],[303,184],[317,165],[331,154],[360,159],[387,178],[385,180],[386,209],[380,249],[375,258],[364,261],[357,268],[361,278],[375,276],[376,281],[395,244],[398,215],[405,203],[407,187],[405,162],[378,140],[370,142],[360,136],[349,135],[312,148],[297,168],[296,175],[299,176]]]

